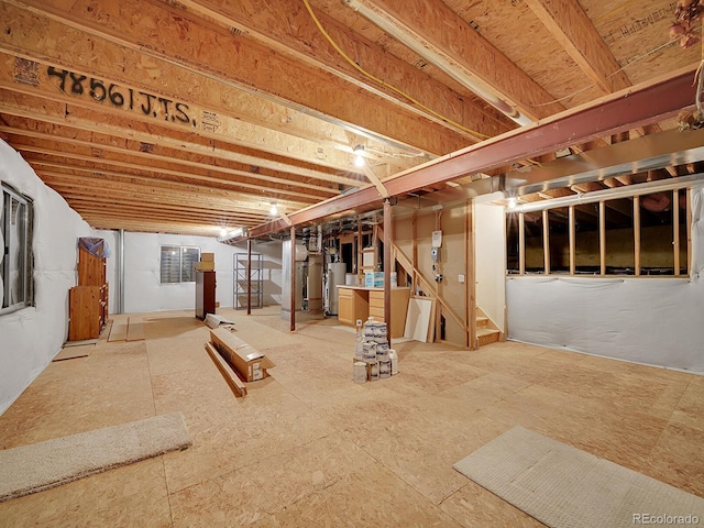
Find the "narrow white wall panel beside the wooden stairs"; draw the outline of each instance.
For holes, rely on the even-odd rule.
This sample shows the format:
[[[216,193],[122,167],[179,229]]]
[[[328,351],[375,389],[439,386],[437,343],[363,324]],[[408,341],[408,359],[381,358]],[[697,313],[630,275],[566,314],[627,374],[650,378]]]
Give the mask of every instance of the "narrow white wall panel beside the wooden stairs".
[[[503,206],[490,202],[503,198],[501,193],[476,198],[473,226],[476,305],[505,331],[506,216]]]

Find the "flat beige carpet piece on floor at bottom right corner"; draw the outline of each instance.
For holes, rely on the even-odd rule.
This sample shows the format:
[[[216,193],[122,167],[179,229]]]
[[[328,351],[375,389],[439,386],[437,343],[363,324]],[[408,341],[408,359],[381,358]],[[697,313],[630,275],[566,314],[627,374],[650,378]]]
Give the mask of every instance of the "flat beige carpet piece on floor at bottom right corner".
[[[551,528],[704,524],[704,498],[518,426],[453,468]]]

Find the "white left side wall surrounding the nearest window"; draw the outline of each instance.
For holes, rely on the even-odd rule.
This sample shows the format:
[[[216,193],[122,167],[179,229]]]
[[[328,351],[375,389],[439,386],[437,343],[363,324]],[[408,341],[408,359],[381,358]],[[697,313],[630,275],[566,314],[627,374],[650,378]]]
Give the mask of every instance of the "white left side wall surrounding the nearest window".
[[[68,290],[76,285],[78,238],[89,226],[0,140],[0,182],[34,201],[35,306],[0,316],[0,415],[61,351],[68,337]]]

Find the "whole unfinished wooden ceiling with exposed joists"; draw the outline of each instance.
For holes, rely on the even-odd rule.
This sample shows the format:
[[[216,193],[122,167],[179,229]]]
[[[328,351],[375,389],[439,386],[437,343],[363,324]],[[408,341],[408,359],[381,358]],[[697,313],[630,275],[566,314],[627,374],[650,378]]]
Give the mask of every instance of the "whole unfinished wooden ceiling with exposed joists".
[[[670,41],[675,3],[657,0],[0,0],[0,134],[40,177],[94,228],[212,237],[371,210],[394,182],[400,207],[448,200],[659,138],[676,110],[552,151],[526,134],[521,158],[424,179],[619,90],[693,82],[702,54]],[[698,156],[525,200],[692,174]]]

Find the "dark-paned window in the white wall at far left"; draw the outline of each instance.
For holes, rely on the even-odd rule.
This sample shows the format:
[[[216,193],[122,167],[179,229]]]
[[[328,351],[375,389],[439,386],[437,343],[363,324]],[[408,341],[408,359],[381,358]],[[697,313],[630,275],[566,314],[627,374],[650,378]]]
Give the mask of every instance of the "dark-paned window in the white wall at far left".
[[[0,315],[32,306],[32,200],[2,184]]]

